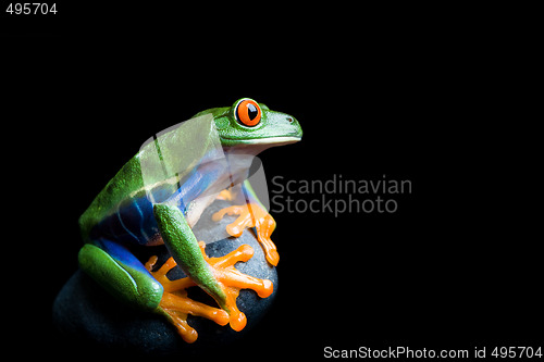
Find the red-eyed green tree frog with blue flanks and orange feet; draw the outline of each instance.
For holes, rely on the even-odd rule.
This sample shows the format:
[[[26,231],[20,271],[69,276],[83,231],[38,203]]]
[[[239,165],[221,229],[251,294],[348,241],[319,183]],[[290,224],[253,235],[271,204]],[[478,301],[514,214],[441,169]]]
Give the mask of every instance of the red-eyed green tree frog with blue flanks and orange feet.
[[[256,155],[271,147],[298,142],[302,137],[300,124],[294,116],[272,111],[251,98],[238,99],[231,107],[205,110],[194,118],[202,116],[212,117],[221,148],[227,155]],[[212,197],[198,198],[203,189],[217,183],[218,174],[224,171],[193,163],[194,170],[183,182],[178,179],[174,187],[174,194],[190,194],[193,201],[187,204],[154,202],[149,198],[143,178],[145,157],[144,149],[140,149],[81,215],[84,241],[78,252],[81,270],[121,303],[164,317],[188,344],[198,338],[197,330],[187,322],[188,315],[209,319],[220,326],[228,324],[236,332],[244,329],[247,320],[236,305],[239,291],[251,289],[260,298],[268,298],[273,292],[273,284],[236,270],[236,263],[252,258],[250,246],[242,245],[226,255],[209,258],[206,242],[197,240],[193,233],[193,227],[213,199],[236,200],[232,187],[212,194]],[[271,240],[275,221],[249,179],[242,182],[240,189],[246,202],[221,209],[212,220],[219,222],[225,215],[235,215],[235,221],[226,226],[226,233],[239,237],[248,228],[255,230],[265,262],[276,266],[280,255]],[[156,255],[147,262],[135,255],[135,249],[158,245],[164,245],[170,257],[160,267]],[[174,267],[180,267],[186,277],[171,280],[166,274]],[[190,287],[201,288],[217,305],[190,299],[187,296]]]

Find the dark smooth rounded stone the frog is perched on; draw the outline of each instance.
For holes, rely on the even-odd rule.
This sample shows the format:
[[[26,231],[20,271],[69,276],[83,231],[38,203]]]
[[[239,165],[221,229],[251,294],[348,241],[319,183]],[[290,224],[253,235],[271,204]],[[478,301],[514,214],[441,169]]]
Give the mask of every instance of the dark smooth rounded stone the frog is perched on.
[[[217,201],[201,220],[209,220],[211,214],[226,202]],[[225,216],[220,226],[210,229],[199,229],[198,223],[195,227],[197,238],[206,241],[217,233],[225,233],[224,227],[232,222],[234,216]],[[215,234],[212,234],[215,233]],[[252,290],[242,290],[237,299],[237,305],[247,316],[247,326],[242,332],[233,330],[228,325],[218,324],[189,315],[188,323],[198,332],[198,339],[188,345],[177,335],[176,329],[164,317],[152,313],[140,312],[127,308],[112,298],[91,278],[83,272],[77,271],[64,285],[53,305],[53,321],[58,328],[76,339],[84,340],[89,345],[99,345],[119,349],[128,349],[135,353],[175,353],[200,351],[215,346],[222,346],[237,339],[247,333],[264,314],[272,303],[277,290],[277,274],[275,269],[267,263],[260,244],[257,241],[252,230],[245,230],[239,238],[224,238],[206,246],[209,257],[222,257],[235,250],[240,245],[247,244],[254,248],[254,257],[246,263],[237,263],[236,269],[245,274],[272,280],[274,292],[265,299],[261,299]],[[145,262],[151,254],[159,255],[157,266],[168,258],[166,248],[149,247],[138,258]],[[177,279],[185,275],[178,267],[174,267],[169,278]],[[189,288],[188,296],[196,300],[215,305],[213,299],[201,291],[198,287]]]

